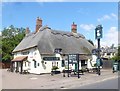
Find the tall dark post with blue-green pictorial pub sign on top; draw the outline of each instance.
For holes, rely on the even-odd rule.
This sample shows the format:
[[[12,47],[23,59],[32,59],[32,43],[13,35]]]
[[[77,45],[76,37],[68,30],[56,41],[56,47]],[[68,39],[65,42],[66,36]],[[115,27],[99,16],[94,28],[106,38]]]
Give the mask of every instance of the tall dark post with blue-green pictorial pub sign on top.
[[[96,63],[97,63],[97,73],[98,75],[100,75],[100,66],[101,66],[101,58],[100,58],[100,39],[102,38],[102,25],[98,25],[96,28],[95,28],[95,39],[97,39],[98,41],[98,56],[97,56],[97,60],[96,60]]]

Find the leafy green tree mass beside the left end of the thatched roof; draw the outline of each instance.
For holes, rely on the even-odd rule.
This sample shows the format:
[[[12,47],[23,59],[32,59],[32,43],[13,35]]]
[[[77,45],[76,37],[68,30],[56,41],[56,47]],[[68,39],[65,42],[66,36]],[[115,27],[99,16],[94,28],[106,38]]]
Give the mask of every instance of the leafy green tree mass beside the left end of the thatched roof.
[[[24,28],[15,28],[13,25],[2,31],[2,61],[12,59],[12,51],[25,36]]]

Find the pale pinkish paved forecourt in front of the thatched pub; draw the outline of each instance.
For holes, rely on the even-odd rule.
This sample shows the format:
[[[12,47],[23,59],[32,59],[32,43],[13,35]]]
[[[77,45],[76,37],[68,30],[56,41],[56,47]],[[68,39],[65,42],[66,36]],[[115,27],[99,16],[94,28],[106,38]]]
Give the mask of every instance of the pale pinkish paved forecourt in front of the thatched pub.
[[[0,69],[2,89],[72,89],[78,86],[98,83],[101,81],[118,78],[118,73],[112,73],[112,69],[101,69],[101,75],[96,73],[87,73],[63,77],[63,74],[19,74],[8,72],[6,69]],[[1,80],[0,80],[1,81]]]

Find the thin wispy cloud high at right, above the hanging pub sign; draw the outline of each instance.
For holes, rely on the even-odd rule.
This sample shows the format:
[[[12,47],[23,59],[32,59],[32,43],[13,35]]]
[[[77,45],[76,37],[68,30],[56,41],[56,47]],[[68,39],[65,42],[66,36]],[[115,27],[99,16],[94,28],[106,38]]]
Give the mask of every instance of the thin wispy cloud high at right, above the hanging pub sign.
[[[103,15],[101,18],[98,18],[97,21],[101,22],[101,21],[105,21],[105,20],[117,20],[117,15],[114,13],[108,14],[108,15]]]

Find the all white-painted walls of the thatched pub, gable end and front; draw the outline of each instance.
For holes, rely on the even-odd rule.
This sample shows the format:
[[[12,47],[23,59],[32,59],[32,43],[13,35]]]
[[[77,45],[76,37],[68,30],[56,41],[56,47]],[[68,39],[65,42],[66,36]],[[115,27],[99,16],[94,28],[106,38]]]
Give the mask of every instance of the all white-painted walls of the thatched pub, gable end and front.
[[[23,62],[23,70],[29,69],[28,71],[30,73],[34,73],[34,74],[42,74],[42,73],[50,73],[51,69],[52,69],[52,62],[54,61],[44,61],[44,63],[42,63],[41,61],[43,60],[43,57],[59,57],[60,60],[55,61],[56,63],[58,63],[58,70],[62,72],[63,69],[65,69],[65,67],[62,67],[62,57],[60,54],[55,54],[55,55],[41,55],[39,50],[37,48],[31,48],[29,50],[29,54],[24,55],[24,56],[28,56],[27,62],[26,62],[26,66],[25,66],[25,61]],[[17,52],[16,55],[14,55],[14,58],[17,56],[23,56],[22,52]],[[96,56],[93,55],[92,56],[92,64],[96,63]],[[34,61],[33,59],[36,61],[36,68],[34,67]],[[67,60],[65,61],[67,62]],[[93,68],[90,64],[90,59],[88,60],[87,63],[87,67],[88,68]],[[20,67],[19,67],[20,69]],[[70,64],[70,69],[75,69],[75,64]],[[79,69],[81,69],[81,61],[79,62]]]

